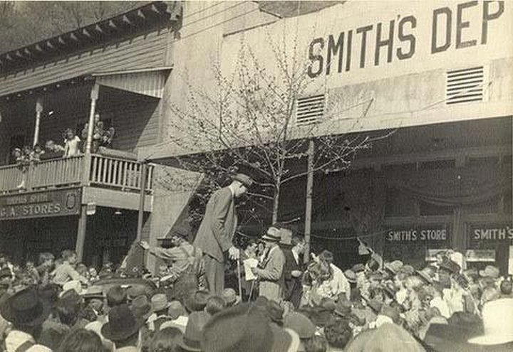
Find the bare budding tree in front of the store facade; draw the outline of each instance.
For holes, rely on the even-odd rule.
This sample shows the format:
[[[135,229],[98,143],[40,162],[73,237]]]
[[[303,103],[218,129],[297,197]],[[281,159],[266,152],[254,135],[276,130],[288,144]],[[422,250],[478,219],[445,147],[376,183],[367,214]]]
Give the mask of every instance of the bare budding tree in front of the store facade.
[[[254,212],[268,211],[274,223],[279,220],[282,187],[306,175],[306,167],[297,165],[306,156],[309,140],[314,139],[316,144],[315,173],[347,169],[358,151],[370,148],[372,142],[389,133],[371,137],[328,132],[335,130],[343,111],[356,105],[362,107],[358,119],[364,118],[373,98],[353,107],[343,107],[334,100],[324,107],[318,121],[297,126],[298,99],[323,93],[326,87],[314,87],[314,80],[307,74],[311,62],[298,58],[296,45],[289,54],[270,38],[268,43],[275,68],[269,69],[269,63],[262,65],[252,48],[242,43],[232,74],[226,75],[219,64],[213,65],[217,92],[207,92],[185,80],[187,104],[169,105],[175,114],[170,130],[176,133],[170,144],[185,154],[174,158],[177,165],[207,174],[200,203],[206,203],[209,193],[219,187],[220,176],[242,169],[252,174],[259,185],[251,197]],[[170,177],[165,183],[176,186],[180,180]]]

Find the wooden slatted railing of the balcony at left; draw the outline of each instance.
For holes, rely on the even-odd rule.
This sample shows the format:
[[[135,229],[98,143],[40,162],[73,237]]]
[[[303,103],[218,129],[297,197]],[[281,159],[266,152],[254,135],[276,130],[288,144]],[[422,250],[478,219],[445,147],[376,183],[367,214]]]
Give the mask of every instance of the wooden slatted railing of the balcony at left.
[[[152,165],[148,165],[147,191],[152,190],[152,172]],[[138,161],[97,154],[0,167],[0,193],[89,185],[139,191],[141,183],[142,164]]]

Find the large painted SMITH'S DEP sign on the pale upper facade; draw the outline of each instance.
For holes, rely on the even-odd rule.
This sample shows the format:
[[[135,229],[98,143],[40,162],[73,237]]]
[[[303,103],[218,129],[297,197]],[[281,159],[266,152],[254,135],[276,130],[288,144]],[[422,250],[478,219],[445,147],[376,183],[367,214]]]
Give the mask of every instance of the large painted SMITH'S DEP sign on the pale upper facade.
[[[383,3],[388,4],[388,1]],[[366,16],[368,4],[371,3],[358,4],[361,14],[356,17]],[[502,45],[511,46],[508,6],[513,6],[513,1],[426,1],[425,11],[408,9],[408,6],[406,1],[400,1],[395,7],[401,10],[395,17],[371,20],[343,31],[334,29],[339,24],[348,26],[353,19],[333,21],[331,31],[328,28],[326,34],[309,42],[308,56],[312,63],[309,76],[333,76],[417,57],[420,60],[439,58],[444,53],[468,55],[467,49],[472,51],[472,48],[486,53],[486,50],[494,50],[490,44],[496,46],[499,36],[499,41],[504,41]],[[382,16],[390,16],[390,8],[382,10],[388,13]],[[464,64],[461,60],[460,57],[460,65]]]

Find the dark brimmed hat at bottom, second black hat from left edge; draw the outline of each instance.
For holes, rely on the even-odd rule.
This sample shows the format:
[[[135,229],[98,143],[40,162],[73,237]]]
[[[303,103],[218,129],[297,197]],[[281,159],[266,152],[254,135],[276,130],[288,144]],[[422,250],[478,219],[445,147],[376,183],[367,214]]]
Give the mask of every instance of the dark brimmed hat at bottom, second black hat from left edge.
[[[144,321],[135,318],[133,311],[126,304],[110,309],[108,322],[103,324],[101,334],[110,341],[125,341],[138,334]]]

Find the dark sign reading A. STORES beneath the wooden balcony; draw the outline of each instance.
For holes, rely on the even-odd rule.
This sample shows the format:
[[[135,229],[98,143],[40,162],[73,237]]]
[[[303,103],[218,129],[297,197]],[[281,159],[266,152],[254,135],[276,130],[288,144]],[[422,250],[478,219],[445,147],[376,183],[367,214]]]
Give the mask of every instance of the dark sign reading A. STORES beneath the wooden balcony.
[[[0,198],[0,220],[77,215],[80,209],[80,188]]]

